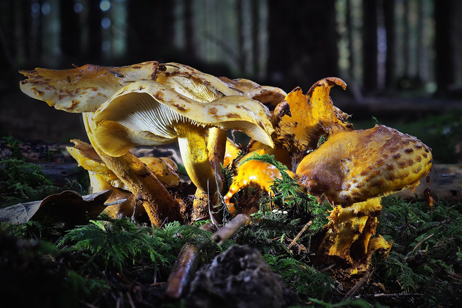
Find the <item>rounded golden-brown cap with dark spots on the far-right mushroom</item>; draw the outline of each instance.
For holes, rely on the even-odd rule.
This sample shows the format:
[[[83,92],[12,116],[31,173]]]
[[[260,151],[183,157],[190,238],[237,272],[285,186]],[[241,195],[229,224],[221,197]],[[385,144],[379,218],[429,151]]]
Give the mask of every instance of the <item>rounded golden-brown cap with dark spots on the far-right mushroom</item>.
[[[430,151],[384,125],[343,131],[306,155],[297,176],[305,191],[346,206],[419,185],[432,167]]]

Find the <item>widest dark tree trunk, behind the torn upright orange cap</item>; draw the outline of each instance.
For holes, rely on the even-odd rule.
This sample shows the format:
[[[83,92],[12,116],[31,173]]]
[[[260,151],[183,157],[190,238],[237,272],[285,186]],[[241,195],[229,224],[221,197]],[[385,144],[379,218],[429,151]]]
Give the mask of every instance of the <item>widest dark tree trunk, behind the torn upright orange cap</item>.
[[[269,1],[268,80],[286,91],[305,92],[317,80],[335,76],[337,39],[334,0]]]

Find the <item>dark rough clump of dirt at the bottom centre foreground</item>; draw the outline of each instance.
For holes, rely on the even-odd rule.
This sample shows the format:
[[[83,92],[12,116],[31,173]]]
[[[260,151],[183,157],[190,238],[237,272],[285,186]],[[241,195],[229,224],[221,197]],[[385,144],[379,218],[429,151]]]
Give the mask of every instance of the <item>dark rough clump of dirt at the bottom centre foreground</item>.
[[[235,245],[197,273],[186,303],[191,308],[282,308],[297,305],[298,296],[258,250]]]

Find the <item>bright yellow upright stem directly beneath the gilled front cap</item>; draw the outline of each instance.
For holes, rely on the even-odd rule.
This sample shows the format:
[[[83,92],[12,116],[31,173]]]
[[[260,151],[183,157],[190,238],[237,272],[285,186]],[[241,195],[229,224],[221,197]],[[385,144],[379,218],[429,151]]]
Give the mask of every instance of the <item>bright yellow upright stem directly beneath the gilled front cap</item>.
[[[180,135],[178,145],[184,168],[198,189],[204,192],[215,191],[215,173],[207,157],[205,129],[188,124],[177,124]]]

